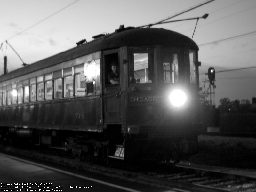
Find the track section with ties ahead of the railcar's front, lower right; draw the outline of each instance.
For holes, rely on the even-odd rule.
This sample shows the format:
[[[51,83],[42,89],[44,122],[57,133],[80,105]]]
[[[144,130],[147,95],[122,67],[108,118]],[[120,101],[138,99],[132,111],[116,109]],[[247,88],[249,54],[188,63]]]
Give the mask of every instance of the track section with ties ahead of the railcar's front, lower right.
[[[184,165],[176,165],[176,169],[142,172],[156,177],[164,183],[176,183],[183,188],[192,191],[239,191],[255,192],[256,177],[212,171],[202,168],[191,168]]]

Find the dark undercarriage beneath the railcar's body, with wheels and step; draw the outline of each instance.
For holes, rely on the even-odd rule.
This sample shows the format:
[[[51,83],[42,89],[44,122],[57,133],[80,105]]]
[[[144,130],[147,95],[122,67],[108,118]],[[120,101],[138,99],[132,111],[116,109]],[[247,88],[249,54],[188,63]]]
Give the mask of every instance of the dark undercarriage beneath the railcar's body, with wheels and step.
[[[145,133],[122,134],[120,125],[113,125],[103,133],[4,128],[0,135],[5,144],[58,148],[72,154],[74,159],[86,162],[108,163],[116,159],[134,163],[175,164],[198,150],[197,135],[159,139]]]

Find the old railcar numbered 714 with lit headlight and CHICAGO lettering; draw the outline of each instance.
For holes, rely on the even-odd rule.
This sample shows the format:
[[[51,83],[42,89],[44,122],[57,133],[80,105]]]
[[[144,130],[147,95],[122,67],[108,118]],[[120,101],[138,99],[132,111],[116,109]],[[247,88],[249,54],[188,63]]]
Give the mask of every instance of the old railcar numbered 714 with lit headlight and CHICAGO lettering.
[[[0,76],[1,138],[80,159],[175,163],[198,147],[198,66],[196,43],[162,28],[122,26],[83,40]]]

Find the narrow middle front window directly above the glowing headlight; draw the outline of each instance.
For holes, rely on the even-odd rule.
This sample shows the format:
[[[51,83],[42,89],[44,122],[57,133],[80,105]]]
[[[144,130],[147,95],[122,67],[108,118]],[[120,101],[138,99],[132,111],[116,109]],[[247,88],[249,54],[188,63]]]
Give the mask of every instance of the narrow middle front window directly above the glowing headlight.
[[[162,65],[163,65],[163,82],[178,83],[179,82],[178,54],[164,53],[164,57],[162,58]]]

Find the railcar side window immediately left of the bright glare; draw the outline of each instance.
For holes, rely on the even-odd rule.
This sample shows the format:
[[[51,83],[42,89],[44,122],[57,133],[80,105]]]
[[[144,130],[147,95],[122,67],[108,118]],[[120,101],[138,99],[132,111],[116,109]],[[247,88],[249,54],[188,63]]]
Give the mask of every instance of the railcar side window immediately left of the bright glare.
[[[85,95],[85,74],[84,74],[84,64],[74,67],[75,74],[75,94],[76,96]]]

